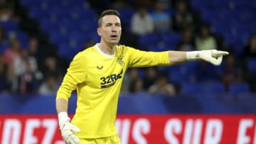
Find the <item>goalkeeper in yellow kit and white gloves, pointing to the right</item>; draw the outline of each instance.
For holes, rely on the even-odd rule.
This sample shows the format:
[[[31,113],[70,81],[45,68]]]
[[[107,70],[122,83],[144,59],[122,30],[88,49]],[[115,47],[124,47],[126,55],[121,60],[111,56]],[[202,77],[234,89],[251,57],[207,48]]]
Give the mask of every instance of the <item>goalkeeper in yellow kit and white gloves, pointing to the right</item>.
[[[120,143],[114,121],[127,68],[174,65],[190,60],[220,65],[223,55],[228,55],[228,52],[218,50],[140,51],[117,45],[121,31],[118,11],[103,11],[97,28],[100,43],[79,52],[70,63],[56,96],[60,132],[65,143]],[[74,90],[78,94],[77,109],[70,121],[68,98]]]

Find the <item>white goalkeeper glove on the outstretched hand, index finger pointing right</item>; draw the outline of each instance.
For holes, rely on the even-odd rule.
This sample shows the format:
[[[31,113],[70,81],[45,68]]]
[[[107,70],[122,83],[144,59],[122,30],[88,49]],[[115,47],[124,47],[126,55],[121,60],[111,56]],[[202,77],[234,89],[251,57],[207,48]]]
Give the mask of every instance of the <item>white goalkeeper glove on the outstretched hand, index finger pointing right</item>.
[[[228,55],[228,52],[220,50],[201,50],[186,52],[187,60],[206,60],[213,65],[220,65],[223,60],[223,55]]]

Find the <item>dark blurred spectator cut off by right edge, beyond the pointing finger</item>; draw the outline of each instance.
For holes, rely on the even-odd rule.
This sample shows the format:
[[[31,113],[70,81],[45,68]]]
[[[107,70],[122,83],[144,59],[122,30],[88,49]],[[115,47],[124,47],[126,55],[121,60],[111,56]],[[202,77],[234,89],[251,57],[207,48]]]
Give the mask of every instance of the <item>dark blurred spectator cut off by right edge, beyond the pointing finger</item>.
[[[249,42],[245,45],[245,57],[256,57],[256,34],[251,35]]]

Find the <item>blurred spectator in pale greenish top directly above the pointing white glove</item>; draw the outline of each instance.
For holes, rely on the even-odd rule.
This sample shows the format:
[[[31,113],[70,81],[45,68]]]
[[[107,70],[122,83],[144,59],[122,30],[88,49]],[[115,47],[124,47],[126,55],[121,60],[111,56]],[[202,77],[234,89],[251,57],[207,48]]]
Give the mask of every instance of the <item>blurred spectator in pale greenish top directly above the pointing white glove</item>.
[[[196,50],[216,49],[217,43],[213,35],[210,33],[209,26],[202,26],[199,35],[196,36]]]

